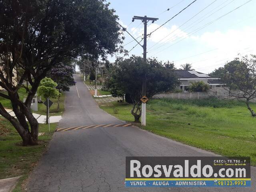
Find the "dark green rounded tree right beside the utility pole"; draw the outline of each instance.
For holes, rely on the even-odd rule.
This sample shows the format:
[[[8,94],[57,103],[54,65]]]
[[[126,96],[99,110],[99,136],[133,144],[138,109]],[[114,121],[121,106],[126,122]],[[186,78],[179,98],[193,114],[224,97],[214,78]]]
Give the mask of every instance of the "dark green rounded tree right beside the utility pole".
[[[147,59],[146,65],[143,58],[139,56],[118,60],[113,76],[115,91],[120,90],[130,96],[133,103],[131,114],[134,116],[134,122],[140,122],[140,98],[142,97],[142,80],[145,78],[145,72],[146,96],[151,98],[159,92],[173,90],[178,85],[178,79],[173,69],[174,64],[168,62],[163,65],[155,58]]]

